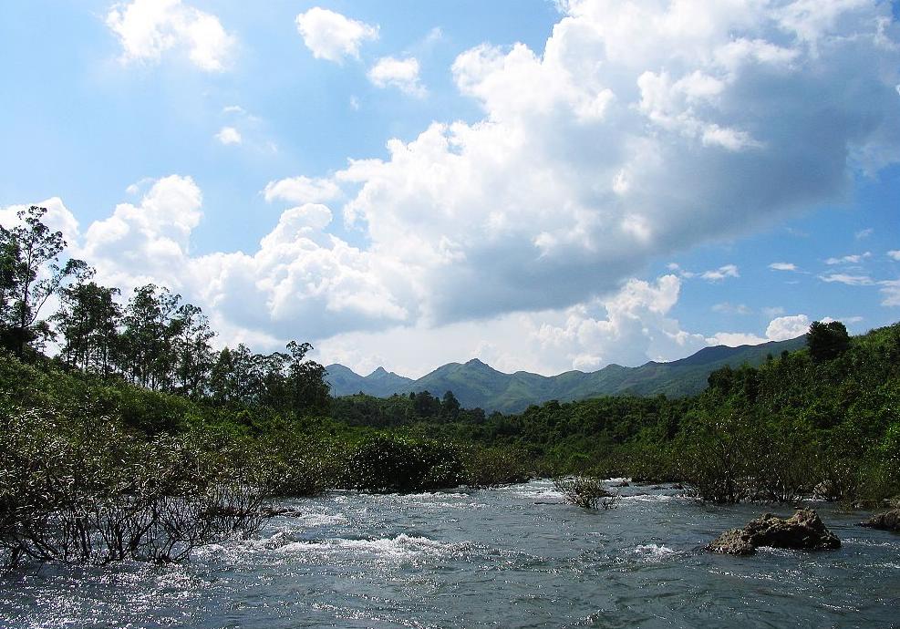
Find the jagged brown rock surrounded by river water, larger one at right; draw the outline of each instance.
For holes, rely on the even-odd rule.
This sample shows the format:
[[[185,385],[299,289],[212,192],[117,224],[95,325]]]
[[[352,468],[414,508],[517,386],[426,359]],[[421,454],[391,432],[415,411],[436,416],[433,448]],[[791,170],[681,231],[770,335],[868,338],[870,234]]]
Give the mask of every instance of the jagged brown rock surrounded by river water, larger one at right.
[[[750,555],[760,546],[822,551],[840,548],[841,541],[825,527],[814,510],[798,509],[786,520],[766,513],[743,529],[729,529],[712,541],[707,550]]]

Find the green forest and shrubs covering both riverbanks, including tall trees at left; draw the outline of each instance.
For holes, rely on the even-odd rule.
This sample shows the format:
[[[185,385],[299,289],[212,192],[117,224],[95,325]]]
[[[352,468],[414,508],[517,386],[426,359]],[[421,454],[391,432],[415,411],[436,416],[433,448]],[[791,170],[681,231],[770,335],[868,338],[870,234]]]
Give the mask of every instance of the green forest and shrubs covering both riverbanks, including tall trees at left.
[[[451,391],[331,397],[304,342],[215,349],[202,310],[67,258],[46,211],[0,228],[0,562],[177,561],[251,535],[274,499],[678,481],[698,500],[847,506],[900,494],[900,325],[724,367],[694,397],[463,408]],[[52,311],[52,312],[51,312]],[[302,322],[298,322],[302,330]]]

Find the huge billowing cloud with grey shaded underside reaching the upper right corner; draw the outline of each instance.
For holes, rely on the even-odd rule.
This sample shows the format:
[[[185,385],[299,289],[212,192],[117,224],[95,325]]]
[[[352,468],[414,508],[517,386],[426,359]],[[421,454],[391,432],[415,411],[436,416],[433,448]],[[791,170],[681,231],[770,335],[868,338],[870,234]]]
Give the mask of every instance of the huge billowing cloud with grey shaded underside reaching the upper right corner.
[[[409,270],[411,310],[429,321],[582,303],[660,254],[843,199],[864,156],[872,166],[900,148],[897,53],[874,27],[884,5],[845,6],[816,28],[756,3],[564,8],[542,54],[457,57],[482,120],[434,123],[335,174],[357,187],[345,220]],[[666,80],[649,81],[659,67]],[[752,146],[704,141],[682,119]]]

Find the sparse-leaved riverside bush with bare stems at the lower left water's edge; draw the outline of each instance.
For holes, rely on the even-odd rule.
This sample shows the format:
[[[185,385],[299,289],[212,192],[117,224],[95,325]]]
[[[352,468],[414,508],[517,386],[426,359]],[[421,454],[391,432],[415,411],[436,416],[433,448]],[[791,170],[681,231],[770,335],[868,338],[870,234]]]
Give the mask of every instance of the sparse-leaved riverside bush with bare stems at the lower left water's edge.
[[[257,531],[268,479],[227,451],[145,441],[105,418],[52,409],[0,418],[0,552],[22,560],[173,562],[198,545]]]

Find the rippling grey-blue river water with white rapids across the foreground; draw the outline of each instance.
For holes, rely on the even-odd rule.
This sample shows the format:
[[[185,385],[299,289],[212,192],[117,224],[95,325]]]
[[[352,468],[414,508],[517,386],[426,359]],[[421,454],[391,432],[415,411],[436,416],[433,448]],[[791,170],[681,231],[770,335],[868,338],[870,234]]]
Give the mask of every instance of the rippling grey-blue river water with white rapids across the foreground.
[[[900,626],[900,536],[854,526],[861,514],[815,505],[839,551],[735,558],[702,546],[760,506],[621,492],[607,511],[564,504],[546,480],[298,500],[183,565],[7,573],[0,626]]]

